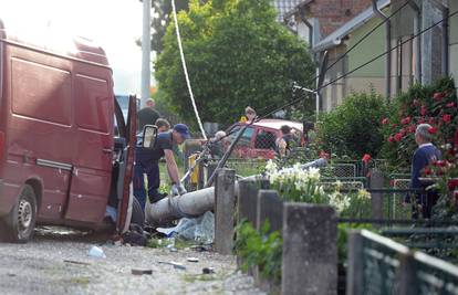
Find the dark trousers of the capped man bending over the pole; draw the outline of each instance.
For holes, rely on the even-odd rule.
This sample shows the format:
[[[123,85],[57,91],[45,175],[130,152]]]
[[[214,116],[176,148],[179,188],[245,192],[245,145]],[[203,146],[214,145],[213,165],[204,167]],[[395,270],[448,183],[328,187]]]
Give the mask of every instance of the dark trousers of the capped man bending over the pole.
[[[146,175],[148,179],[147,190],[145,188],[144,175]],[[147,166],[142,164],[135,164],[133,185],[134,196],[138,200],[143,210],[145,210],[146,196],[148,196],[149,202],[152,203],[160,200],[163,196],[158,191],[160,186],[159,164],[155,162],[149,164]]]

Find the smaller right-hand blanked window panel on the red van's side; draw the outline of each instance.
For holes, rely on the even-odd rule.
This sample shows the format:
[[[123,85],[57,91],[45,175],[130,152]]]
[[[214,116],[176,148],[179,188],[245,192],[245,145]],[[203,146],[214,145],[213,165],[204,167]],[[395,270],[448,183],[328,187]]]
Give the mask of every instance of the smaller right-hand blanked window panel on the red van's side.
[[[111,122],[108,120],[113,119],[112,99],[108,83],[105,80],[76,75],[75,115],[77,126],[84,129],[110,133]]]

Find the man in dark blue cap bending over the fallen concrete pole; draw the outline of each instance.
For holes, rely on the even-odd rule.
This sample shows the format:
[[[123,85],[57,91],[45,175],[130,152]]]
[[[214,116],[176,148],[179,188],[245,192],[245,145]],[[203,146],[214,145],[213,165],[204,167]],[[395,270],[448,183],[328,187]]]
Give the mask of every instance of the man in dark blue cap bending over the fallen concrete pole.
[[[185,124],[177,124],[174,128],[166,133],[157,135],[154,148],[137,147],[135,152],[134,167],[134,196],[137,198],[142,208],[145,209],[146,192],[149,202],[154,203],[165,198],[166,193],[158,191],[160,186],[159,160],[165,157],[167,172],[171,180],[171,191],[174,194],[186,193],[186,189],[179,180],[178,167],[174,158],[173,148],[181,145],[186,139],[190,138],[189,129]],[[148,179],[148,189],[146,191],[144,182],[144,173]]]

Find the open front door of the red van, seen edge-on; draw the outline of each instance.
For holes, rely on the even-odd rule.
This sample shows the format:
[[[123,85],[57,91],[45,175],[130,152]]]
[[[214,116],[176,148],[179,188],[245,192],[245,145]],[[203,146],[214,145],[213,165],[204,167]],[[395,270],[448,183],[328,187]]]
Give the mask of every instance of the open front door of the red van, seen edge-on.
[[[118,206],[118,218],[117,218],[117,229],[119,232],[124,231],[127,223],[129,222],[128,211],[129,204],[132,204],[131,198],[131,181],[134,167],[134,150],[136,145],[136,130],[137,130],[137,99],[135,95],[129,96],[128,103],[128,115],[127,115],[127,126],[126,126],[126,140],[127,140],[127,152],[126,152],[126,168],[124,175],[124,186],[123,186],[123,199]],[[119,180],[122,181],[122,180]]]

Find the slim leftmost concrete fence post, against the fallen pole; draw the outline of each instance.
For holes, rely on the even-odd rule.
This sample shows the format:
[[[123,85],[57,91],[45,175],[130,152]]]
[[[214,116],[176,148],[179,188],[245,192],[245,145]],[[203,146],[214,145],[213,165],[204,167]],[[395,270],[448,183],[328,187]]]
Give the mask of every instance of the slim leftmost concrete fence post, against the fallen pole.
[[[219,169],[215,182],[215,247],[229,255],[233,249],[233,211],[236,206],[236,171]]]

